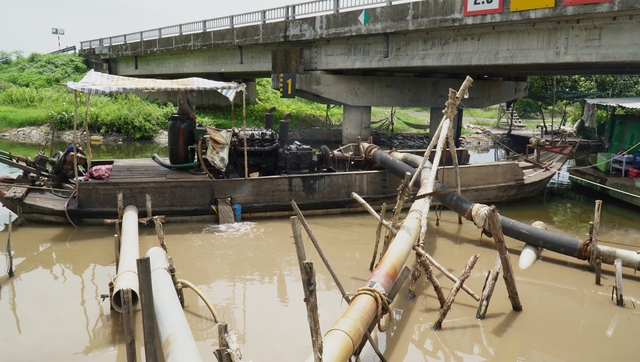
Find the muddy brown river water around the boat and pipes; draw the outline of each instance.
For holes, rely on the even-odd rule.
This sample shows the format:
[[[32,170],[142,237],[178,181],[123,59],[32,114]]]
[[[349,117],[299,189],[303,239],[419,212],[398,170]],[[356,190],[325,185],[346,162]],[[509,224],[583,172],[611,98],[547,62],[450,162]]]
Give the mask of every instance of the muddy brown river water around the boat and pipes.
[[[7,144],[0,145],[7,149]],[[13,153],[33,155],[33,147]],[[124,145],[120,145],[124,149]],[[148,157],[144,145],[127,156]],[[118,147],[116,147],[118,148]],[[101,155],[94,148],[94,157]],[[152,150],[150,153],[161,153]],[[483,154],[484,155],[484,154]],[[472,155],[476,157],[491,157]],[[0,174],[18,171],[0,165]],[[565,177],[566,178],[566,177]],[[562,175],[554,184],[565,185]],[[574,191],[547,190],[526,202],[498,205],[501,214],[525,223],[544,221],[558,233],[586,238],[594,199]],[[3,209],[0,223],[6,223]],[[313,233],[348,292],[364,286],[375,243],[377,222],[368,214],[309,217]],[[599,239],[608,245],[640,249],[640,213],[605,202]],[[178,278],[195,284],[216,308],[221,320],[238,334],[244,361],[304,361],[311,353],[300,272],[288,218],[258,219],[226,226],[215,223],[166,224],[165,240]],[[6,275],[0,259],[0,360],[126,361],[121,316],[110,309],[108,292],[115,273],[114,230],[107,226],[28,224],[11,235],[15,276]],[[153,228],[141,226],[140,253],[158,245]],[[327,269],[305,234],[307,257],[314,261],[321,329],[326,332],[346,309]],[[457,215],[429,214],[426,250],[454,275],[481,253],[465,283],[482,292],[497,251],[470,222]],[[4,251],[6,227],[0,232]],[[624,244],[624,245],[622,245]],[[507,238],[523,311],[514,312],[502,278],[498,280],[486,319],[475,318],[477,303],[458,294],[443,329],[431,327],[439,305],[424,279],[417,298],[407,301],[407,284],[392,304],[393,324],[374,333],[388,361],[631,361],[637,360],[640,277],[624,270],[624,308],[611,300],[613,267],[603,266],[602,285],[585,262],[543,251],[529,269],[517,266],[522,243]],[[413,256],[407,259],[411,266]],[[436,273],[447,295],[453,285]],[[217,325],[205,304],[185,289],[185,316],[203,361],[216,361]],[[635,305],[634,305],[635,304]],[[135,313],[138,360],[144,360],[141,313]],[[365,348],[362,361],[378,361]]]

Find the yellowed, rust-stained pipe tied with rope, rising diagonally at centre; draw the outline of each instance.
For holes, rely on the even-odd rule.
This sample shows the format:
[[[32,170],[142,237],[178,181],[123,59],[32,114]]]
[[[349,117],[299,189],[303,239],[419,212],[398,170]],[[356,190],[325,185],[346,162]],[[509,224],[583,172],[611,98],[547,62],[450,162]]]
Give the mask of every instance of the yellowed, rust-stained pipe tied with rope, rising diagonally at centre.
[[[420,192],[426,192],[428,179],[429,169],[425,168],[420,175]],[[365,283],[367,287],[385,293],[385,296],[391,290],[420,234],[420,220],[425,202],[426,199],[421,199],[411,205],[402,227]],[[342,317],[325,334],[322,360],[349,360],[377,312],[378,306],[372,297],[364,294],[356,295]],[[311,355],[307,362],[313,361],[314,356]]]

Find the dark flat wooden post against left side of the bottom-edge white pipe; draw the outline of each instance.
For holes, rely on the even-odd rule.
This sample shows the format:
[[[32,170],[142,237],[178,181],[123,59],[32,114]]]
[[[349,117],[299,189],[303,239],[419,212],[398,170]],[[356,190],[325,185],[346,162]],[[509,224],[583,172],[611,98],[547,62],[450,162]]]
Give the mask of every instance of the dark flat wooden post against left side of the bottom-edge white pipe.
[[[137,259],[136,263],[140,285],[145,361],[156,362],[158,361],[158,342],[156,340],[156,315],[153,303],[153,287],[151,285],[151,260],[149,257],[144,257]]]

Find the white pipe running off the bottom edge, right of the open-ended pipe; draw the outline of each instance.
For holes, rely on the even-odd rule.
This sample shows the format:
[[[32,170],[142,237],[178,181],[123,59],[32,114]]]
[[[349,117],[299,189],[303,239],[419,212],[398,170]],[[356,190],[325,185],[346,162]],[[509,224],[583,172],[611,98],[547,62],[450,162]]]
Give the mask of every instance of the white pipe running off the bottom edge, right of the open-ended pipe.
[[[153,305],[164,360],[202,361],[168,271],[167,254],[162,248],[155,246],[147,251],[147,256],[151,264]]]

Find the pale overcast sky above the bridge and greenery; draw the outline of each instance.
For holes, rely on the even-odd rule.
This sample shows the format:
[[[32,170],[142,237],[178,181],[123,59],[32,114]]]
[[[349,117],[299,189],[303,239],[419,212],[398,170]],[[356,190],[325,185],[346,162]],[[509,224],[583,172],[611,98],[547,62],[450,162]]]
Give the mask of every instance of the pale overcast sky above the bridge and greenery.
[[[50,53],[58,50],[51,28],[64,29],[62,48],[80,42],[197,20],[214,19],[305,0],[3,0],[0,50]]]

